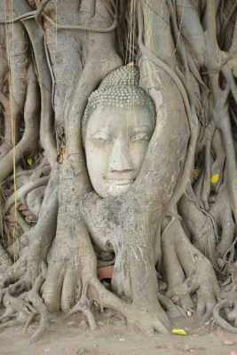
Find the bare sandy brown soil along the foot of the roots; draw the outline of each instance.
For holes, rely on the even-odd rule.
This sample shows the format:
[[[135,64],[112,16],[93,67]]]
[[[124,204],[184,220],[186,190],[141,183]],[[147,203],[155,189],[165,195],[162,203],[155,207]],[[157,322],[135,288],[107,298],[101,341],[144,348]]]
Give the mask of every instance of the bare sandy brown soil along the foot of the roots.
[[[28,339],[38,325],[28,328],[9,327],[0,332],[0,355],[233,355],[237,351],[237,335],[229,334],[213,322],[199,326],[196,319],[176,321],[187,335],[146,335],[126,326],[124,319],[111,311],[97,315],[99,329],[93,333],[83,314],[68,318],[53,314],[49,329],[35,344]],[[235,353],[235,355],[237,352]]]

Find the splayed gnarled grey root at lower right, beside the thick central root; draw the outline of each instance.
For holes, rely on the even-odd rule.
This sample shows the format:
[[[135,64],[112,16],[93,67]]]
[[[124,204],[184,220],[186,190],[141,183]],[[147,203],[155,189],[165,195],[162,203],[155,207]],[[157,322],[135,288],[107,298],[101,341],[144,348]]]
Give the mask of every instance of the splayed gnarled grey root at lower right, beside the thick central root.
[[[162,233],[167,296],[186,311],[194,307],[191,295],[196,292],[196,311],[208,319],[219,296],[215,272],[209,260],[186,237],[178,219],[173,219]]]

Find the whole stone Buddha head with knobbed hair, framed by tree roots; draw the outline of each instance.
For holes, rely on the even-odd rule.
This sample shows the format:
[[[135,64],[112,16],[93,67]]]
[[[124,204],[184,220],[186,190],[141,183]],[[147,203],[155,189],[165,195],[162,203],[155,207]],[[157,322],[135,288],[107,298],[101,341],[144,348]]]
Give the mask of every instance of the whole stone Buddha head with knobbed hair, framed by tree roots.
[[[87,169],[103,198],[129,190],[154,132],[154,103],[138,83],[138,67],[119,67],[91,93],[85,109]]]

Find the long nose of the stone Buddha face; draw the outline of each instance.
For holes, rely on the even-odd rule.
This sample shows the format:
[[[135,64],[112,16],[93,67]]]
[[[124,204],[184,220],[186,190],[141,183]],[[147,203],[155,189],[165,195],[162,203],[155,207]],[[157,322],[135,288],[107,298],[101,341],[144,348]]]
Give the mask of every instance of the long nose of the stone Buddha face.
[[[126,142],[124,142],[122,138],[116,139],[109,156],[108,170],[113,172],[133,169],[134,167],[130,160],[130,153]]]

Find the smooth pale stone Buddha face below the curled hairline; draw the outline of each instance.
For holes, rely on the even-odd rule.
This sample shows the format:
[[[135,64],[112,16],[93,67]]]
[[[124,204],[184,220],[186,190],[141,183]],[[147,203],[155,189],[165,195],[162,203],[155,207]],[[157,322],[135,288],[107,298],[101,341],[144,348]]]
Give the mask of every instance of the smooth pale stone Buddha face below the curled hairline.
[[[98,106],[85,131],[91,184],[101,197],[126,193],[142,166],[154,131],[146,106]]]

